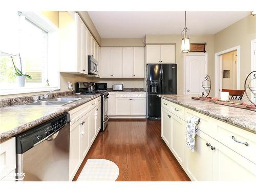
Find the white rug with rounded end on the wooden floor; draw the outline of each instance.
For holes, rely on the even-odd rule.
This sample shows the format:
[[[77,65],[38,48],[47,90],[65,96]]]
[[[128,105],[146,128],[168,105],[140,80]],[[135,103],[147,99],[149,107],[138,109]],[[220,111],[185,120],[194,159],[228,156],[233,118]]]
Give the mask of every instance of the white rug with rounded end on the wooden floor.
[[[77,181],[115,181],[119,175],[118,166],[106,159],[88,159]]]

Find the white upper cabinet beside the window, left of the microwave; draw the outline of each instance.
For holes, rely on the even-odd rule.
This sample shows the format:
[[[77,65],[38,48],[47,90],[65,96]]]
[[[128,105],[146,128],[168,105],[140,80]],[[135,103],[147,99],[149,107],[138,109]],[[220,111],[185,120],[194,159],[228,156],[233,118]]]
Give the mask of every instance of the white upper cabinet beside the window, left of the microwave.
[[[60,72],[88,74],[85,31],[88,29],[77,13],[59,12]]]

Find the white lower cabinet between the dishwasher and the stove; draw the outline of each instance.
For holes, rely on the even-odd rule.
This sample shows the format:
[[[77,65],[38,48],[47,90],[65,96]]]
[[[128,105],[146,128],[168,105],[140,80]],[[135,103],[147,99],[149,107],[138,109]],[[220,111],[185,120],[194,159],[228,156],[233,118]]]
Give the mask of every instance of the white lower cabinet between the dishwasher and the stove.
[[[78,106],[69,113],[71,117],[69,180],[72,181],[100,130],[100,97]]]

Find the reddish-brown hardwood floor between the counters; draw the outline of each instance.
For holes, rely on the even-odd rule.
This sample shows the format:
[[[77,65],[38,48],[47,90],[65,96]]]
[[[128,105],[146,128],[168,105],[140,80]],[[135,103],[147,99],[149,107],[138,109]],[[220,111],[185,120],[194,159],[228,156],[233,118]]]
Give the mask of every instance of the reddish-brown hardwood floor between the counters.
[[[110,120],[99,132],[73,181],[87,159],[108,159],[119,167],[117,181],[190,181],[161,138],[161,121]]]

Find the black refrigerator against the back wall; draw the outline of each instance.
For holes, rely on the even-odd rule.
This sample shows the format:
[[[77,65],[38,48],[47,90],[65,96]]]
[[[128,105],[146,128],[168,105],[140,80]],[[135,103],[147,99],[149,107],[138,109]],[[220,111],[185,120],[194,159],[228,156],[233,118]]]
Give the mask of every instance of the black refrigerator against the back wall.
[[[177,94],[176,64],[147,64],[147,118],[161,118],[161,98],[158,94]]]

